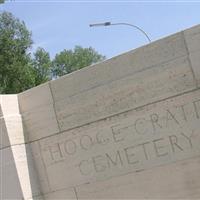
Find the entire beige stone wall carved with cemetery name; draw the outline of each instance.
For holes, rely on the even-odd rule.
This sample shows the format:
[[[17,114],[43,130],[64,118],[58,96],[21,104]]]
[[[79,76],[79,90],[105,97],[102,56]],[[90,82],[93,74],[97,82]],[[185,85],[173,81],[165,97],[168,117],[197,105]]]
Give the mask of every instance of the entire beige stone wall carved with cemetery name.
[[[196,26],[2,96],[3,197],[200,198],[199,63]]]

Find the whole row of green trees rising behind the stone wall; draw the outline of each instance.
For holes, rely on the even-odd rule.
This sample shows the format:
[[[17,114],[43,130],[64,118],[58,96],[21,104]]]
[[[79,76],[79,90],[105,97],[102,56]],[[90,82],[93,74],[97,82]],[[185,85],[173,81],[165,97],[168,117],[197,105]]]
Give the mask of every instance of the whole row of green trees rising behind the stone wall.
[[[39,47],[33,56],[31,32],[11,13],[0,14],[0,93],[19,93],[105,59],[93,48],[63,50],[53,61]]]

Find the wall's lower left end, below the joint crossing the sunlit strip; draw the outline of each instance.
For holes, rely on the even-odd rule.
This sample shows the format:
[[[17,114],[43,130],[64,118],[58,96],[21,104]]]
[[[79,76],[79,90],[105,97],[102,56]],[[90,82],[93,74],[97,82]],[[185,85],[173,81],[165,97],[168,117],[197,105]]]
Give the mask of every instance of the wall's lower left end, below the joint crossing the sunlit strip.
[[[28,145],[0,150],[0,160],[1,199],[28,199],[40,194]]]

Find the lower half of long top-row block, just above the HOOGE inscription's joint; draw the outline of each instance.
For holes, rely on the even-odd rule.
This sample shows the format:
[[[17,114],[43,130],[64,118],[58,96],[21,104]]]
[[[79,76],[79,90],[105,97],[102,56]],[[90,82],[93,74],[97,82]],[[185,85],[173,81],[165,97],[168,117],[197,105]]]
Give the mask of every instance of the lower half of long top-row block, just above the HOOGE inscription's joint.
[[[194,88],[196,83],[185,56],[56,101],[55,109],[64,131]]]

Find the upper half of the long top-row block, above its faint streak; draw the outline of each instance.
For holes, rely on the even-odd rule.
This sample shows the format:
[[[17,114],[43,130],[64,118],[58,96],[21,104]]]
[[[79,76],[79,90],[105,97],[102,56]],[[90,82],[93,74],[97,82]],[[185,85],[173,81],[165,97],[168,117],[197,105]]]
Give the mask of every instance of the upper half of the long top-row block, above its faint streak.
[[[65,99],[185,55],[183,34],[177,33],[51,81],[53,96],[55,101]]]

